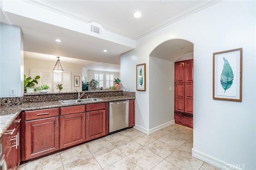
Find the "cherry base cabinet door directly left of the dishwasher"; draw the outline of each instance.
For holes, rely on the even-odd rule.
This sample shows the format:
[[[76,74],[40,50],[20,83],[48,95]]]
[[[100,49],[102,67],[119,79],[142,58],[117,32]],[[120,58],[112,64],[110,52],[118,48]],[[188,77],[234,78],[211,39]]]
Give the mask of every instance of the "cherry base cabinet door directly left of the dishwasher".
[[[106,135],[105,110],[86,112],[86,141]]]

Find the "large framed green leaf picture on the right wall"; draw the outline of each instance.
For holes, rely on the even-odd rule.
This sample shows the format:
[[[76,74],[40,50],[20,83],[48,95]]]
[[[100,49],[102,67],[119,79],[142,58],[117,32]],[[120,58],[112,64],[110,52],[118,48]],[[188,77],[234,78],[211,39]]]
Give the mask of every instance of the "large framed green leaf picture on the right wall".
[[[213,99],[242,101],[242,48],[213,53]]]

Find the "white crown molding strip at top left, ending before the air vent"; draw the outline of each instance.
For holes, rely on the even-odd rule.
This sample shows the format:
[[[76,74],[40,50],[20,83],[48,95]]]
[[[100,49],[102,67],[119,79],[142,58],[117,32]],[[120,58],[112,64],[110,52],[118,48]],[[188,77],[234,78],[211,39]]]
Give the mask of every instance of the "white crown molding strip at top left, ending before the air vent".
[[[89,23],[92,21],[91,18],[87,18],[85,16],[82,16],[80,14],[77,14],[75,12],[72,12],[70,10],[66,10],[64,8],[60,8],[58,6],[55,6],[55,5],[52,5],[44,0],[23,0],[24,2],[28,2],[30,4],[33,4],[33,5],[36,5],[36,6],[39,6],[41,8],[45,8],[46,10],[50,10],[50,11],[53,11],[53,12],[56,12],[58,14],[62,14],[64,16],[68,16],[70,18],[74,18],[76,20],[80,20],[82,22],[85,22],[85,23]]]

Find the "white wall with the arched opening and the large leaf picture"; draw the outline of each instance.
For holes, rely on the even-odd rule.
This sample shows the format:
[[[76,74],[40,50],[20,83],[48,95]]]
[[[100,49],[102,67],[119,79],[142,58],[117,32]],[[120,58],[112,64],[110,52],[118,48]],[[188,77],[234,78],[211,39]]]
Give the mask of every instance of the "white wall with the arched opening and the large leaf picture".
[[[225,164],[256,169],[255,5],[255,1],[220,1],[139,39],[136,49],[121,56],[121,78],[126,77],[127,85],[136,91],[136,64],[148,66],[156,46],[176,38],[194,44],[193,156],[222,169]],[[242,102],[213,100],[213,53],[240,47]],[[146,79],[153,82],[149,70]],[[152,128],[149,97],[155,96],[151,91],[160,90],[148,87],[147,83],[146,92],[136,91],[135,123],[145,131]]]

